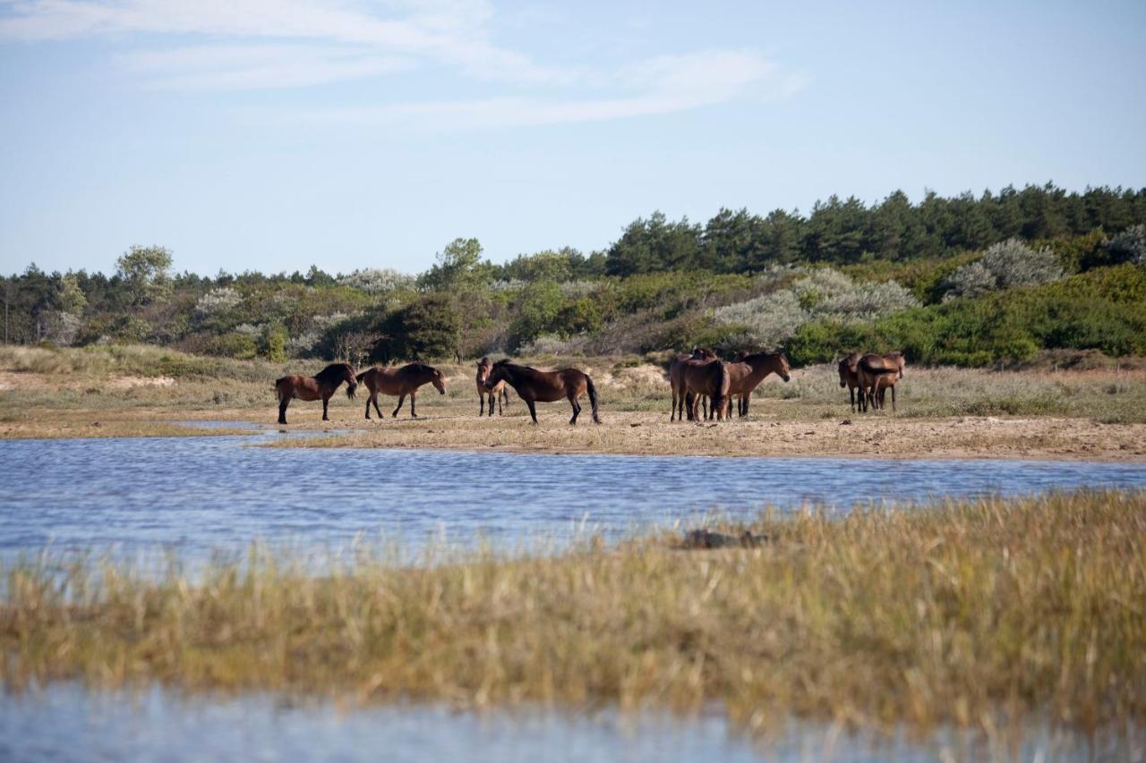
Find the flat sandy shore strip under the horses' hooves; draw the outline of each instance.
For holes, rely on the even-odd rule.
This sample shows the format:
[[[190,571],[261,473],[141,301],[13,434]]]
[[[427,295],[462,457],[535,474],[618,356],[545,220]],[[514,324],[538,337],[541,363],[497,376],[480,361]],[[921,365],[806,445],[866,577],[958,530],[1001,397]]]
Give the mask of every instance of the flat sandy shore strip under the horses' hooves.
[[[329,436],[284,440],[277,447],[457,448],[509,453],[609,453],[689,456],[851,456],[873,458],[1061,458],[1146,462],[1146,425],[1101,424],[1083,418],[960,416],[908,418],[889,414],[847,414],[791,420],[760,401],[748,420],[669,423],[656,411],[604,411],[601,425],[588,410],[578,426],[566,423],[563,404],[539,407],[533,426],[517,402],[507,416],[478,418],[474,406],[427,399],[419,418],[364,420],[346,401],[331,404],[322,422],[317,406],[292,407],[288,431]],[[464,411],[463,411],[464,408]],[[230,434],[250,425],[275,427],[273,409],[173,411],[140,407],[121,410],[28,410],[0,423],[0,439],[172,436]],[[210,430],[186,422],[235,422]]]

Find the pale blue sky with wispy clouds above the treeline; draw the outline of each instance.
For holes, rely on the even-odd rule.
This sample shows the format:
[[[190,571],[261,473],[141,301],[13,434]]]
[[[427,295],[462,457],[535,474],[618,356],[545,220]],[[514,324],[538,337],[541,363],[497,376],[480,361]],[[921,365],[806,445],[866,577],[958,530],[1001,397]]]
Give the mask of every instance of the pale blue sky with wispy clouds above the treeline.
[[[417,273],[639,217],[1146,186],[1146,2],[0,0],[0,273]]]

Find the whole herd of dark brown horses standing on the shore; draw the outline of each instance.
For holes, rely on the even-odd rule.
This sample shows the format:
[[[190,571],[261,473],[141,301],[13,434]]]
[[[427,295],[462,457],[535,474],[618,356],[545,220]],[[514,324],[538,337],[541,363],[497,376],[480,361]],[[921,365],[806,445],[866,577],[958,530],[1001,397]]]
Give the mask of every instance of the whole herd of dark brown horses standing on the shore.
[[[887,391],[892,391],[892,410],[895,410],[895,385],[903,378],[903,353],[887,355],[853,353],[840,361],[840,387],[848,387],[851,410],[866,411],[882,408]],[[737,399],[737,414],[748,415],[752,393],[769,373],[776,373],[784,382],[791,378],[787,357],[783,353],[737,353],[731,362],[722,361],[711,349],[696,348],[690,354],[676,355],[668,365],[668,380],[673,388],[673,408],[669,420],[702,420],[731,418],[732,399]],[[417,418],[416,400],[418,387],[432,384],[439,394],[446,394],[446,383],[441,371],[425,363],[409,363],[401,368],[371,368],[355,373],[350,363],[331,363],[315,376],[284,376],[275,382],[278,398],[278,423],[286,423],[286,407],[291,400],[322,401],[322,420],[327,415],[330,398],[343,383],[346,396],[354,399],[359,384],[370,392],[366,401],[366,417],[370,418],[374,406],[378,418],[378,393],[398,396],[398,406],[391,412],[397,417],[407,395],[410,398],[410,416]],[[478,390],[478,416],[493,416],[494,402],[499,415],[503,404],[509,404],[507,387],[513,387],[529,409],[533,423],[537,423],[535,404],[568,400],[573,408],[570,424],[576,424],[581,414],[580,399],[588,395],[592,420],[601,424],[597,408],[597,390],[587,373],[575,368],[559,371],[539,371],[527,365],[511,363],[508,359],[490,363],[488,357],[478,361],[474,383]],[[859,391],[858,396],[856,391]],[[701,410],[700,407],[704,407]]]

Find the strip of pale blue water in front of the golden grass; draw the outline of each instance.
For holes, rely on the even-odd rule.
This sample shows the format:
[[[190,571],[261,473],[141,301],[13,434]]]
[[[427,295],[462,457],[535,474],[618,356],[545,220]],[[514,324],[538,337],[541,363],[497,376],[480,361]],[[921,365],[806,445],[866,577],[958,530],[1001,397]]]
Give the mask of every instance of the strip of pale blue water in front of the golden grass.
[[[339,710],[265,694],[89,693],[56,684],[0,692],[0,760],[11,761],[780,761],[1132,760],[1125,740],[1089,750],[1077,736],[1030,729],[1017,747],[965,734],[928,740],[855,737],[787,724],[753,746],[719,714],[672,718],[452,711],[439,706]]]

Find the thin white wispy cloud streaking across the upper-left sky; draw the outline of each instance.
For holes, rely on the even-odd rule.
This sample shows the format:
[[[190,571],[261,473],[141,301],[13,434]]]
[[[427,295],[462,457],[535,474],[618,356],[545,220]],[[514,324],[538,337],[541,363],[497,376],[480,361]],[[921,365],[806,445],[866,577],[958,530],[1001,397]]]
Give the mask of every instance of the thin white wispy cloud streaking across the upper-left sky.
[[[296,115],[313,121],[545,125],[776,100],[803,84],[754,50],[550,66],[496,45],[493,17],[484,0],[395,0],[382,10],[351,0],[0,0],[0,39],[123,39],[129,49],[117,60],[154,88],[306,87],[430,65],[512,93]],[[178,44],[156,46],[164,36]],[[188,45],[189,37],[204,42]],[[140,40],[151,47],[139,49]]]

